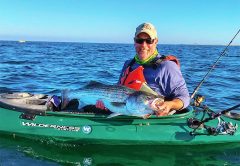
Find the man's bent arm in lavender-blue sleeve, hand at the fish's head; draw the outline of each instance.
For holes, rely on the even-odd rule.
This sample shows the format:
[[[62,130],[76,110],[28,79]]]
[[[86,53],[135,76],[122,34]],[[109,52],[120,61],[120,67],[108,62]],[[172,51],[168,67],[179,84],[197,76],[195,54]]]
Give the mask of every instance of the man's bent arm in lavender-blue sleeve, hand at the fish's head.
[[[163,103],[157,103],[155,106],[157,115],[163,116],[172,110],[186,108],[190,103],[190,96],[179,67],[174,62],[166,61],[159,71],[159,85],[168,96],[165,96],[166,100]]]

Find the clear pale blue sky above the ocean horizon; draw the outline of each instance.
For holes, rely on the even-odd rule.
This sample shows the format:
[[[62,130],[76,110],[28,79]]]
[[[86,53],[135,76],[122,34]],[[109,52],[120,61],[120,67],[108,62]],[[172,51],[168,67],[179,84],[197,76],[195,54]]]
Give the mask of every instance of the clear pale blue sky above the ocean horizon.
[[[159,43],[225,45],[240,0],[0,0],[0,40],[132,43],[143,22]]]

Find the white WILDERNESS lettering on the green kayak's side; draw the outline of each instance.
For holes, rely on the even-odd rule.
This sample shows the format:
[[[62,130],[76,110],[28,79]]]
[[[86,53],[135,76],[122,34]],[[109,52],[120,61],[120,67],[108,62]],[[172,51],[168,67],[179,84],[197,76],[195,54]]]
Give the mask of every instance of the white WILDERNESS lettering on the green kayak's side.
[[[65,131],[79,131],[80,127],[74,126],[61,126],[61,125],[53,125],[53,124],[43,124],[43,123],[29,123],[29,122],[22,122],[23,126],[28,127],[45,127],[45,128],[54,128],[57,130],[65,130]]]

